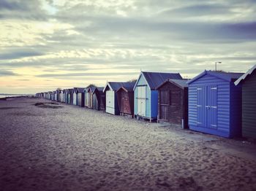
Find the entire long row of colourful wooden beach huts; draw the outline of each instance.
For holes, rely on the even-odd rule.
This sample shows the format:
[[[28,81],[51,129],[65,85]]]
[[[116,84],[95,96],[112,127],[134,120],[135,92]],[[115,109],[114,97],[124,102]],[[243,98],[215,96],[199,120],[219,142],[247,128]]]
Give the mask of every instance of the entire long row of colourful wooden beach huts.
[[[136,82],[107,82],[105,87],[74,87],[36,96],[217,136],[256,139],[256,65],[245,74],[203,71],[193,79],[141,71]]]

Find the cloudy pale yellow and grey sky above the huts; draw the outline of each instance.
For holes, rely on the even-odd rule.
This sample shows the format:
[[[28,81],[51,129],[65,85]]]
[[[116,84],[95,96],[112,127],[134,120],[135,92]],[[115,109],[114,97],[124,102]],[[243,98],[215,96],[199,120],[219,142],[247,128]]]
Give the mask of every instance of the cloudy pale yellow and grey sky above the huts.
[[[246,72],[255,50],[256,0],[0,0],[0,93]]]

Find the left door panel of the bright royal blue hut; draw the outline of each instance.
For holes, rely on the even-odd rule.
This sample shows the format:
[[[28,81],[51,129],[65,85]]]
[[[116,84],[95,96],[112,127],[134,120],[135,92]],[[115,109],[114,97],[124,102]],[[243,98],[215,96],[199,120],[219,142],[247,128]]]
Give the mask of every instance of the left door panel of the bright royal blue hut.
[[[197,126],[206,128],[206,86],[197,87]]]

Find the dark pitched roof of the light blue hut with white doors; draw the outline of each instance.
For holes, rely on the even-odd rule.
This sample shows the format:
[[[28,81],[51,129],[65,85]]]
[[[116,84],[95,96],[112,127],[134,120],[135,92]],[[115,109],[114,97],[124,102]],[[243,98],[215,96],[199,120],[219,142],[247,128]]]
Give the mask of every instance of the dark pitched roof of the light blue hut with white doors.
[[[151,90],[156,90],[156,88],[167,79],[182,79],[181,74],[179,73],[141,71],[140,76],[141,75],[143,75],[143,77],[146,79],[146,82],[148,83],[148,86],[151,88]],[[138,80],[139,79],[140,77]],[[138,80],[135,86],[137,85]],[[133,89],[135,89],[135,87]]]

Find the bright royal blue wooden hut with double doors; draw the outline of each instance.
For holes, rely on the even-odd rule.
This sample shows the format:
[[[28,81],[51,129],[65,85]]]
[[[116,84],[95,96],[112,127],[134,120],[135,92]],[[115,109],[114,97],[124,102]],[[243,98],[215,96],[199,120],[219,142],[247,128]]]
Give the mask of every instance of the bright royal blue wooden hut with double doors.
[[[241,136],[242,73],[203,71],[189,80],[189,128],[217,136]]]

